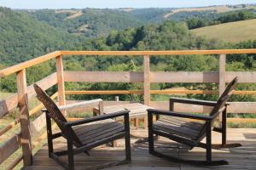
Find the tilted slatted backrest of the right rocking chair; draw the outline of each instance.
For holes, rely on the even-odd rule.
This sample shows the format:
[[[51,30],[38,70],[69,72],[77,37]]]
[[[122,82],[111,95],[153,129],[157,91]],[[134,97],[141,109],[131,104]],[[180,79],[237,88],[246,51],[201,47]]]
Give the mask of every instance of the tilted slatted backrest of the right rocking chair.
[[[230,96],[234,93],[234,89],[236,88],[236,84],[238,82],[238,77],[235,77],[225,88],[223,94],[218,98],[217,104],[212,109],[210,116],[215,116],[215,119],[218,118],[218,115],[224,111],[224,107]],[[214,122],[214,120],[212,120]],[[213,123],[212,123],[213,126]],[[198,136],[198,141],[203,139],[206,136],[206,124],[202,127],[201,133]]]

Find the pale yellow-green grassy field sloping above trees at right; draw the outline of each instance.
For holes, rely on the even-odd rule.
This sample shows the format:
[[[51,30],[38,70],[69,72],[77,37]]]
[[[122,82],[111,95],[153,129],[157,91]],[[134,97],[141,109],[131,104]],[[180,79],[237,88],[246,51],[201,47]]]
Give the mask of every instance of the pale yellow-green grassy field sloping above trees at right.
[[[256,39],[256,19],[206,26],[191,31],[197,36],[218,38],[224,42],[241,42]]]

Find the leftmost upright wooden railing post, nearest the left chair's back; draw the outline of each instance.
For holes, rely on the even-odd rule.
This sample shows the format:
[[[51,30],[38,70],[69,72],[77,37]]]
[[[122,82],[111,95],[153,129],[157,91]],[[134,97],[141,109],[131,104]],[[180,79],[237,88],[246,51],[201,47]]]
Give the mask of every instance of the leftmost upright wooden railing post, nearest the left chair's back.
[[[26,70],[17,72],[18,105],[20,109],[21,146],[24,166],[32,165],[32,142],[29,124],[29,110],[26,94]]]

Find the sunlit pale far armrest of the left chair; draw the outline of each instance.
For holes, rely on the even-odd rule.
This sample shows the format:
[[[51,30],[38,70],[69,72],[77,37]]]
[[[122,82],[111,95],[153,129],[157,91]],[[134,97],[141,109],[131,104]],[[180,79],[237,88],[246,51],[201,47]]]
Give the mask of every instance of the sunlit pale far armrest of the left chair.
[[[68,105],[60,105],[58,106],[60,110],[69,110],[69,109],[75,109],[75,108],[79,108],[81,106],[84,105],[93,105],[96,103],[100,103],[102,102],[102,99],[92,99],[92,100],[88,100],[88,101],[82,101],[82,102],[78,102],[78,103],[73,103],[73,104],[68,104]],[[46,109],[42,109],[41,111],[45,112],[47,111]]]

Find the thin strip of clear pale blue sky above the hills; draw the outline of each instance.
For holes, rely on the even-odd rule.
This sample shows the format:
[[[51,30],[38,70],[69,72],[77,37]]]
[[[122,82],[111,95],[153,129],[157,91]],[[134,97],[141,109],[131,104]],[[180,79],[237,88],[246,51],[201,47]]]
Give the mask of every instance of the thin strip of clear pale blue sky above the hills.
[[[172,8],[256,3],[256,0],[0,0],[9,8]]]

